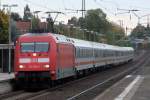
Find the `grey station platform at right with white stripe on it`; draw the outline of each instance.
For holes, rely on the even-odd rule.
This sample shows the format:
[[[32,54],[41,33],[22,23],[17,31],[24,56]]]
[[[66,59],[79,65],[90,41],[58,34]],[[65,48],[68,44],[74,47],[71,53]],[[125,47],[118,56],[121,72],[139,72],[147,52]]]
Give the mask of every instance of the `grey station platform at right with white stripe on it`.
[[[94,100],[150,100],[150,73],[144,71],[146,75],[126,76]]]

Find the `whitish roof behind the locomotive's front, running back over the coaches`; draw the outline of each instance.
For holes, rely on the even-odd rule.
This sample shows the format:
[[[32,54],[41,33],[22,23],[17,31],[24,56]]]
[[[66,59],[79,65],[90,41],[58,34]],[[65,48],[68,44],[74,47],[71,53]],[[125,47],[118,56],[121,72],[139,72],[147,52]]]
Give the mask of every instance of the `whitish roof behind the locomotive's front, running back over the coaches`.
[[[82,47],[82,48],[97,48],[97,49],[105,49],[105,50],[117,50],[117,51],[133,51],[134,49],[132,47],[120,47],[120,46],[114,46],[104,43],[97,43],[97,42],[91,42],[86,40],[80,40],[75,38],[69,38],[64,35],[59,34],[53,34],[55,38],[58,38],[57,42],[69,42],[74,44],[75,47]]]

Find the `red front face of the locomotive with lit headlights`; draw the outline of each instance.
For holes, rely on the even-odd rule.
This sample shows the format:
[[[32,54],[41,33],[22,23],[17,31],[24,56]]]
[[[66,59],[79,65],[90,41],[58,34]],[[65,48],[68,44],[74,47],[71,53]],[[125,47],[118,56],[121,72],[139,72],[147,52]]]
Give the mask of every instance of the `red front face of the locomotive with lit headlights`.
[[[51,80],[54,52],[48,36],[21,36],[15,49],[15,76],[19,81]],[[52,60],[51,57],[53,58]]]

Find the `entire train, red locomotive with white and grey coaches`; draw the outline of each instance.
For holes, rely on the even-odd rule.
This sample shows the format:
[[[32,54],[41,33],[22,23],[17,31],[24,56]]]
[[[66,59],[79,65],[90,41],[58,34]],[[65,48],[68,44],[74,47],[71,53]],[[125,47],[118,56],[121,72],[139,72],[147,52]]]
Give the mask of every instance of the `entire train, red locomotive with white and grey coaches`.
[[[15,45],[15,80],[57,81],[129,62],[132,47],[85,41],[53,33],[26,33]]]

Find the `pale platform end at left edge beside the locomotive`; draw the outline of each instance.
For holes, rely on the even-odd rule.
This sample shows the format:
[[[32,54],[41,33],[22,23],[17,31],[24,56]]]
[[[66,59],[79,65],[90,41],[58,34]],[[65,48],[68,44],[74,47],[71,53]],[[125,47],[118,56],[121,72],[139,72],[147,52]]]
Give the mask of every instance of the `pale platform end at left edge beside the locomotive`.
[[[14,79],[14,73],[0,73],[0,82],[9,81]]]

